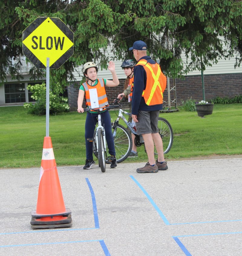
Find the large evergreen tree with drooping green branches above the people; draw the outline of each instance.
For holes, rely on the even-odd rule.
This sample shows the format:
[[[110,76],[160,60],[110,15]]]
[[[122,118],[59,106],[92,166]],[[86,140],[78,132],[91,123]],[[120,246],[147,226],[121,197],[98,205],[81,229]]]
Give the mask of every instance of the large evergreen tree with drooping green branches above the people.
[[[59,69],[51,69],[54,83],[66,85],[73,71],[87,61],[98,60],[107,67],[110,56],[132,58],[128,51],[136,40],[147,43],[149,54],[160,59],[162,71],[170,77],[183,76],[189,70],[205,69],[228,53],[242,56],[242,2],[235,0],[5,0],[0,1],[0,79],[6,69],[12,75],[20,62],[22,32],[37,17],[58,17],[74,32],[74,55]],[[221,36],[221,37],[219,37]],[[181,53],[188,58],[181,60]],[[191,58],[191,59],[190,59]],[[31,74],[44,70],[33,68]],[[82,75],[82,74],[80,74]]]

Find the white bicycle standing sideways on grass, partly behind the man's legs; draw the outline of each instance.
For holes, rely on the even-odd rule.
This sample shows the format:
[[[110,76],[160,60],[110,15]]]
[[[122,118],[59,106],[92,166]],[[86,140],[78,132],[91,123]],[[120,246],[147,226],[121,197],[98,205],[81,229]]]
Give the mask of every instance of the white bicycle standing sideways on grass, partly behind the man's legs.
[[[118,104],[118,102],[119,99],[117,98],[113,101],[113,104]],[[112,122],[113,139],[117,163],[124,161],[129,156],[132,150],[132,139],[129,130],[131,131],[131,133],[135,135],[134,142],[137,147],[140,147],[141,145],[145,144],[143,140],[140,140],[141,136],[136,133],[135,127],[132,127],[132,123],[128,122],[123,114],[126,114],[128,116],[132,115],[131,113],[123,110],[122,108],[119,108],[119,114],[117,115],[117,119],[114,122]],[[127,128],[129,128],[129,130],[119,124],[120,119],[126,123]],[[165,118],[159,117],[158,129],[163,142],[164,154],[166,154],[170,151],[173,143],[172,126]],[[158,155],[156,148],[154,148],[154,153],[155,155]]]

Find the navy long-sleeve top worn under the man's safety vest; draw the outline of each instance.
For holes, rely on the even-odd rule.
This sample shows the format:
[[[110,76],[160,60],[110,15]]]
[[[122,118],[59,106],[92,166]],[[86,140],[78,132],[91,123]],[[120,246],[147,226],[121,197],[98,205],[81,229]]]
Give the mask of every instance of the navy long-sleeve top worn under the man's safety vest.
[[[155,64],[155,61],[150,58],[150,56],[144,56],[139,59],[145,59],[150,64]],[[133,94],[132,94],[132,114],[137,115],[139,110],[143,111],[154,111],[154,110],[161,110],[162,104],[157,104],[153,106],[148,106],[145,102],[144,97],[142,97],[143,90],[146,88],[146,71],[141,66],[135,66],[134,68],[134,87],[133,87]]]

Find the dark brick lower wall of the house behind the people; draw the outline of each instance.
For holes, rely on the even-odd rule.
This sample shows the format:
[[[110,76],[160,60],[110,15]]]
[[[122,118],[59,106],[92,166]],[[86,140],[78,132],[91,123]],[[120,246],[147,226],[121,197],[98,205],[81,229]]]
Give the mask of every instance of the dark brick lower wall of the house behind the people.
[[[123,92],[125,79],[119,79],[119,86],[105,87],[109,102],[112,102],[119,93]],[[234,74],[216,74],[216,75],[204,75],[204,88],[205,99],[213,99],[217,96],[233,98],[235,95],[242,94],[242,73]],[[175,79],[176,83],[176,102],[177,105],[181,105],[181,100],[191,98],[196,101],[203,99],[202,94],[202,81],[201,75],[185,76],[185,79]],[[170,79],[170,88],[174,86],[173,79]],[[77,98],[79,92],[80,83],[76,82],[68,86],[68,102],[70,105],[70,111],[77,110]],[[175,98],[174,91],[171,91],[171,100]],[[164,94],[164,105],[168,106],[168,94],[167,89]],[[84,100],[85,101],[85,100]],[[83,107],[84,105],[83,101]],[[128,106],[127,103],[125,106]],[[172,104],[174,106],[174,104]]]

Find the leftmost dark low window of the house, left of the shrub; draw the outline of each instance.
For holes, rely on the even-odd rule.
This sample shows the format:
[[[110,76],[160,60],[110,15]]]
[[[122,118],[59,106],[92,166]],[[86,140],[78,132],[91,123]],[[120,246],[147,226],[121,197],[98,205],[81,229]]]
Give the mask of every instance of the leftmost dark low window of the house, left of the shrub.
[[[26,102],[25,83],[5,84],[5,103]]]

